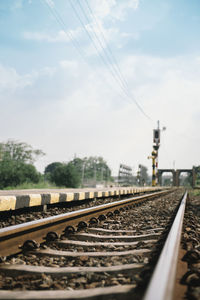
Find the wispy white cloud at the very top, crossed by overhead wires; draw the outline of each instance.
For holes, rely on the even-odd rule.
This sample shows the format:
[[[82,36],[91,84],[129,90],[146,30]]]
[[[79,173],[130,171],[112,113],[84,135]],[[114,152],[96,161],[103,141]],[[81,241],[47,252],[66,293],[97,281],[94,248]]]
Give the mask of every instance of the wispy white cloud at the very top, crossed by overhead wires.
[[[47,0],[46,0],[47,1]],[[55,3],[52,0],[48,0],[48,5],[51,7],[55,6]],[[93,40],[97,44],[98,51],[101,52],[102,45],[106,47],[106,42],[109,43],[111,40],[114,41],[118,47],[120,47],[119,39],[127,38],[130,34],[125,32],[119,32],[119,29],[113,25],[107,25],[105,27],[104,21],[108,19],[109,21],[114,20],[124,20],[124,17],[130,9],[136,10],[138,7],[139,0],[124,0],[123,2],[118,3],[116,0],[94,0],[91,1],[91,7],[94,11],[94,16],[91,18],[90,23],[85,23],[86,29],[91,33]],[[112,24],[112,22],[111,22]],[[38,42],[49,42],[57,43],[64,42],[69,43],[73,40],[84,39],[85,34],[83,34],[83,28],[77,27],[76,29],[70,30],[60,30],[58,32],[30,32],[26,31],[23,33],[23,38],[26,40],[33,40]],[[103,35],[102,35],[103,34]],[[101,40],[101,45],[99,41],[96,40],[96,36]],[[131,35],[132,38],[138,39],[139,35],[134,33]],[[106,41],[106,42],[105,42]],[[96,49],[91,44],[86,45],[87,55],[96,55]]]

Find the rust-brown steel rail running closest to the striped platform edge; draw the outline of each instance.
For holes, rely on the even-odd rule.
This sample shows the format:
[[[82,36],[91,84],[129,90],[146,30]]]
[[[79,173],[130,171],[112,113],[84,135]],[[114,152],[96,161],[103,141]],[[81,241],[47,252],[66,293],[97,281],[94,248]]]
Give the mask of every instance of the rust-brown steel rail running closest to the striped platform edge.
[[[148,195],[145,194],[138,197],[118,200],[108,204],[2,228],[0,229],[0,256],[9,256],[20,252],[19,246],[22,246],[25,241],[30,239],[41,243],[50,231],[60,234],[63,233],[66,226],[77,226],[80,221],[88,222],[91,218],[98,218],[101,214],[106,214],[124,206],[139,203],[147,199],[149,200],[170,192],[171,190],[165,190]]]

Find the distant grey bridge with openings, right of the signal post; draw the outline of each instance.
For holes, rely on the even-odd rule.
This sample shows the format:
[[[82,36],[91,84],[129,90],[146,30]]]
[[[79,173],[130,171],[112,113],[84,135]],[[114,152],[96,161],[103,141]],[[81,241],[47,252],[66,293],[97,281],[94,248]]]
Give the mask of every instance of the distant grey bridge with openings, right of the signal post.
[[[162,185],[162,175],[163,173],[172,173],[173,178],[173,186],[179,186],[180,185],[180,175],[181,173],[189,173],[192,175],[192,187],[195,186],[196,181],[196,172],[195,169],[158,169],[158,183],[159,185]]]

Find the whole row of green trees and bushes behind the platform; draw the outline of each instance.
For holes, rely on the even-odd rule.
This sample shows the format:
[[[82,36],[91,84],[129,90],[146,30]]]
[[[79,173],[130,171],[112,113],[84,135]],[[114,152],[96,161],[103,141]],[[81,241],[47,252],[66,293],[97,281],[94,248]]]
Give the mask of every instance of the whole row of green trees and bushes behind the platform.
[[[40,174],[34,161],[44,153],[26,143],[0,143],[0,189],[77,188],[111,181],[111,170],[102,157],[75,158],[53,162]]]

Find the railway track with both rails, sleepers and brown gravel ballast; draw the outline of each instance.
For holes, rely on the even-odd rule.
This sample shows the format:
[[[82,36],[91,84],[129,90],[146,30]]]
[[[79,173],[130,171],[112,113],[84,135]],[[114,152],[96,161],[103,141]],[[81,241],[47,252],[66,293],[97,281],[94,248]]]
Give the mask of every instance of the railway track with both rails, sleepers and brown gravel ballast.
[[[181,193],[162,191],[1,229],[0,299],[172,299],[176,263],[162,296],[155,283],[144,291],[173,220],[178,238],[170,255],[178,253],[187,198],[180,204]]]

